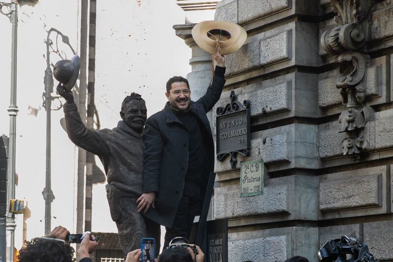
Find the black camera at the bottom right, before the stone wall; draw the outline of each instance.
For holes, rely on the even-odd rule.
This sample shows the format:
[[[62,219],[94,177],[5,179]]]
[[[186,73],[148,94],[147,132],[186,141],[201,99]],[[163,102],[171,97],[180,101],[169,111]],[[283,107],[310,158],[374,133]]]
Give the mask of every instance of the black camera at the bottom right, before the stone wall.
[[[347,259],[349,255],[349,259]],[[368,246],[353,236],[343,235],[327,241],[319,250],[320,262],[376,262]]]

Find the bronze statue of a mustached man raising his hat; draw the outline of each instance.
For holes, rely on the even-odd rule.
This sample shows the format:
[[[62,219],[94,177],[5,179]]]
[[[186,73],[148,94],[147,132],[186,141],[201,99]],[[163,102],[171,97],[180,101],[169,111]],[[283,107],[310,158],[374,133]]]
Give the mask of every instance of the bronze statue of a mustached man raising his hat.
[[[106,191],[112,220],[116,223],[119,244],[125,256],[140,248],[143,237],[160,239],[160,225],[137,211],[142,193],[143,135],[147,118],[145,101],[131,93],[121,104],[121,120],[112,129],[93,130],[81,120],[71,92],[79,74],[79,57],[60,60],[54,76],[60,82],[57,92],[65,98],[63,111],[68,137],[77,146],[97,155],[107,175]],[[159,241],[156,252],[159,253]]]

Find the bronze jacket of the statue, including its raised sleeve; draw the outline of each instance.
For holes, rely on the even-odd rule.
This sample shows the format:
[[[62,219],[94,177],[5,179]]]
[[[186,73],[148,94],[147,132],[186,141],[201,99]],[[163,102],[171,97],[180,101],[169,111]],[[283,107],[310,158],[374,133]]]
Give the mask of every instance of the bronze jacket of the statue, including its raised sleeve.
[[[105,168],[108,183],[136,197],[142,191],[143,133],[119,121],[113,129],[95,131],[81,120],[75,103],[64,105],[68,137],[75,145],[97,155]]]

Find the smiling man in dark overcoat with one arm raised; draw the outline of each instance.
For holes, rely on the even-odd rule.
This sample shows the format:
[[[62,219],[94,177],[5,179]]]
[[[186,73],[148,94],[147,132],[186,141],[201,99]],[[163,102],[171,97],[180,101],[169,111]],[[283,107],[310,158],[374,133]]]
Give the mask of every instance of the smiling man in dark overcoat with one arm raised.
[[[225,84],[225,58],[219,48],[214,59],[213,81],[201,98],[192,101],[187,79],[172,77],[165,108],[146,120],[138,211],[166,227],[164,248],[173,237],[189,237],[214,169],[213,136],[206,114],[220,99]]]

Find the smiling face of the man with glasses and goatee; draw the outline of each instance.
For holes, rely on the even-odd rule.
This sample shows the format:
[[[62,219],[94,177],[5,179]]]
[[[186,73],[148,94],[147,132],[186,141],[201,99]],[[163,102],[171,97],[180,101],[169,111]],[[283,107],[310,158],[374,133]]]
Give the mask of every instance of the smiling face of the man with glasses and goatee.
[[[174,82],[169,93],[165,93],[171,107],[187,110],[191,100],[191,91],[185,82]]]

